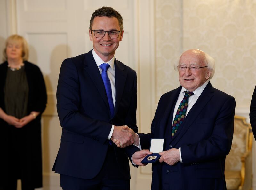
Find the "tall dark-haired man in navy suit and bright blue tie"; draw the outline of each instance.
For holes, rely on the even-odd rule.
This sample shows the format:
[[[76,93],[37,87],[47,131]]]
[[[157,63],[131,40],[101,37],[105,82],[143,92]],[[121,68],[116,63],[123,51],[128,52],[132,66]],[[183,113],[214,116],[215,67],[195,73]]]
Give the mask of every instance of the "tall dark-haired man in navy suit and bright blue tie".
[[[93,49],[61,65],[57,111],[62,135],[53,170],[64,190],[130,189],[125,151],[138,131],[137,78],[114,57],[123,33],[116,10],[96,10],[89,29]],[[112,138],[129,147],[117,148]]]

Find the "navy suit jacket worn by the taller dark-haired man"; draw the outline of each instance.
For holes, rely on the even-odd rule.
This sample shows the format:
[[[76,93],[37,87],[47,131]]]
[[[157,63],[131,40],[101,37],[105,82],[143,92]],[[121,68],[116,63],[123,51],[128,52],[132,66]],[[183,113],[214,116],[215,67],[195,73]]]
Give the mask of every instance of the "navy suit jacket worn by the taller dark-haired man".
[[[111,118],[106,90],[92,50],[65,59],[57,87],[57,111],[62,126],[60,149],[53,166],[56,173],[92,179],[105,160],[112,124],[128,125],[135,132],[136,72],[115,59],[116,103]],[[124,178],[130,179],[125,149],[115,148]]]

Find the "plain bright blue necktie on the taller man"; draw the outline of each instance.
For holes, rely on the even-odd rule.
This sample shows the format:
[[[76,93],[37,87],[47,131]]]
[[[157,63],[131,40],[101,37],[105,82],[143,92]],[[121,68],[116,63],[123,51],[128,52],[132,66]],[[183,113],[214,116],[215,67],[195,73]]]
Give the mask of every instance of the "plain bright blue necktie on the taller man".
[[[101,77],[106,89],[106,93],[108,96],[108,104],[109,104],[109,108],[110,108],[110,113],[111,113],[111,117],[113,117],[114,115],[114,104],[113,104],[113,98],[112,98],[112,91],[111,91],[111,85],[110,85],[110,80],[108,78],[108,73],[107,70],[110,67],[110,65],[108,65],[107,63],[103,63],[100,65],[100,68],[102,69],[102,73],[101,73]]]

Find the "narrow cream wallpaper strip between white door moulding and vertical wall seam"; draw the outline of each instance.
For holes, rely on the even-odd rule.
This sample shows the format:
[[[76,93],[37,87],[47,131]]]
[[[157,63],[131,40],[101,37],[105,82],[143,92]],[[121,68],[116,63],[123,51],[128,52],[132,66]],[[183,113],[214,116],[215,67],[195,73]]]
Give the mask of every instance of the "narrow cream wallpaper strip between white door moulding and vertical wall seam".
[[[183,51],[182,1],[156,0],[156,103],[161,95],[180,83],[173,62]]]

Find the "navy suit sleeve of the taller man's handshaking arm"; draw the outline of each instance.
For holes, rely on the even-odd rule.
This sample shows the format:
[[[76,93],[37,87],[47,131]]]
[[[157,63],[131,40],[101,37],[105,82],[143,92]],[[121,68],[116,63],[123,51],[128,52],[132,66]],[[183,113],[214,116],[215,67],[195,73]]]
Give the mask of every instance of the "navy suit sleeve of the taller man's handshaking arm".
[[[79,83],[76,65],[71,59],[64,60],[57,86],[57,111],[60,125],[70,132],[105,143],[112,124],[86,117],[79,112],[80,85],[82,84]]]

